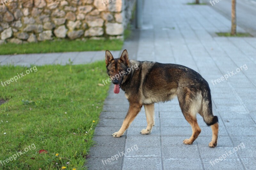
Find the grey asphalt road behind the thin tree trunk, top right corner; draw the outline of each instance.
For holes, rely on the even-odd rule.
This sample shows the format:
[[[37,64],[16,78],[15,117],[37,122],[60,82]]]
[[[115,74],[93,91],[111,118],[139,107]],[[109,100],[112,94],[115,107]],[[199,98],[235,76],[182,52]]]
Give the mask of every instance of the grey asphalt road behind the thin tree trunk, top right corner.
[[[212,6],[210,0],[203,1]],[[212,8],[231,20],[231,0],[215,2]],[[256,0],[236,0],[236,17],[238,26],[256,36]]]

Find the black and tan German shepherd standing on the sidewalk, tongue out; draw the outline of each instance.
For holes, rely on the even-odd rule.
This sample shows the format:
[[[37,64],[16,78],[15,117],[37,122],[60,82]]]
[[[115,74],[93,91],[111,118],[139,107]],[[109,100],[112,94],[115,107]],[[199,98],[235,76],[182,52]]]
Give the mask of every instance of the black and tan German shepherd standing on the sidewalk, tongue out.
[[[204,122],[212,128],[209,147],[217,146],[218,117],[212,114],[210,87],[199,73],[178,64],[129,60],[127,50],[123,51],[120,58],[115,59],[107,50],[105,59],[108,76],[115,85],[114,92],[119,93],[121,88],[129,101],[123,125],[118,132],[112,134],[113,137],[121,137],[124,134],[142,106],[145,108],[148,125],[140,133],[150,134],[155,125],[154,103],[169,101],[177,96],[181,111],[192,127],[191,137],[183,143],[192,144],[200,134],[201,129],[196,120],[196,114],[199,113]],[[137,65],[138,69],[131,69],[134,65]],[[120,77],[117,78],[116,75]]]

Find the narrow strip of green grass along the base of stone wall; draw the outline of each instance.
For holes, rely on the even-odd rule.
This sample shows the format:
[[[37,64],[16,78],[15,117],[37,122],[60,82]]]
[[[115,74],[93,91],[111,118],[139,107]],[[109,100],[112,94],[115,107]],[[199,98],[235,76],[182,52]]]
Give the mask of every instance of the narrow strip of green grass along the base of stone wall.
[[[56,53],[72,51],[99,51],[99,50],[121,50],[121,40],[87,40],[87,41],[44,41],[38,43],[0,45],[0,55],[6,54],[29,54],[29,53]]]

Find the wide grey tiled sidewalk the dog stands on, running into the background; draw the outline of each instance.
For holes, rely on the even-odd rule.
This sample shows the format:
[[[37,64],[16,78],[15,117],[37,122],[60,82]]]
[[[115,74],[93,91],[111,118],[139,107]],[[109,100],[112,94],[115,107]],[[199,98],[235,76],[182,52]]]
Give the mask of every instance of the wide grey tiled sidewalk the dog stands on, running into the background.
[[[199,115],[201,134],[192,145],[182,143],[192,130],[177,99],[155,104],[150,135],[140,134],[147,126],[142,109],[124,136],[111,137],[128,110],[124,92],[114,94],[112,86],[95,129],[97,145],[91,148],[88,169],[256,169],[256,38],[216,36],[230,31],[230,21],[210,6],[187,2],[144,1],[143,30],[124,48],[132,59],[182,64],[209,82],[220,123],[218,146],[208,147],[211,128]],[[225,74],[230,74],[228,80],[219,80]]]

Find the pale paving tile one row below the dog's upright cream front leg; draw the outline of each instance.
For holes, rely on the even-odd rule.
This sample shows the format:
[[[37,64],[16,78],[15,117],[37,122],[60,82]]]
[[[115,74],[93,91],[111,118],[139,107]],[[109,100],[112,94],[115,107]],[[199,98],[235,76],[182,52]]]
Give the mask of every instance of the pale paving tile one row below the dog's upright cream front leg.
[[[160,137],[159,136],[150,136],[150,135],[142,135],[142,136],[127,136],[126,145],[138,146],[160,146]]]

